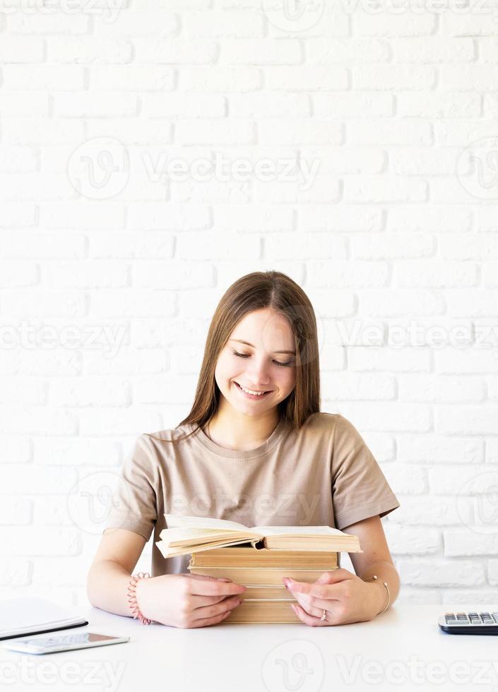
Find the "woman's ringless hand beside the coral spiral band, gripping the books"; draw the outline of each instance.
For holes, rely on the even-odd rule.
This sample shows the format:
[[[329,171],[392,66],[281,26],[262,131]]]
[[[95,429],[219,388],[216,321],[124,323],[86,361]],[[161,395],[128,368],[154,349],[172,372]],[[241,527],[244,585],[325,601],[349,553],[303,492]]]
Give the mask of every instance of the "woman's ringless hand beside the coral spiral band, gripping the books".
[[[163,574],[141,579],[135,595],[141,614],[162,625],[215,625],[237,607],[245,586],[201,574]]]

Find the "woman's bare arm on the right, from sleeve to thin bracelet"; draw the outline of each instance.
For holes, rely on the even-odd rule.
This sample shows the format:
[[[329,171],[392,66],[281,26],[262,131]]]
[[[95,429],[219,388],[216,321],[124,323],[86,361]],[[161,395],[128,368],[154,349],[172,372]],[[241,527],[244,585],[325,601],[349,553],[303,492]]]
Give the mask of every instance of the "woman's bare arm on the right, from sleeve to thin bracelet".
[[[377,582],[370,581],[368,583],[372,586],[372,590],[377,591],[378,612],[380,612],[387,600],[384,582],[387,583],[391,592],[391,604],[396,601],[400,590],[398,572],[393,564],[382,522],[379,516],[369,517],[356,524],[351,524],[343,530],[346,533],[358,536],[360,545],[363,546],[362,553],[349,554],[357,575],[366,581],[374,574],[377,574]]]

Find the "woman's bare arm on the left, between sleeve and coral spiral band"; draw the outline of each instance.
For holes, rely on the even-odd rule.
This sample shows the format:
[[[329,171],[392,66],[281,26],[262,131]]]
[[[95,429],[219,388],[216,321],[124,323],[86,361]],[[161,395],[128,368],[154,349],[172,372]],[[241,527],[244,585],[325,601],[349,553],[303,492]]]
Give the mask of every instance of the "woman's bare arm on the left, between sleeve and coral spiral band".
[[[107,529],[88,571],[86,592],[96,608],[132,616],[128,586],[146,539],[127,529]],[[138,588],[141,583],[136,586]]]

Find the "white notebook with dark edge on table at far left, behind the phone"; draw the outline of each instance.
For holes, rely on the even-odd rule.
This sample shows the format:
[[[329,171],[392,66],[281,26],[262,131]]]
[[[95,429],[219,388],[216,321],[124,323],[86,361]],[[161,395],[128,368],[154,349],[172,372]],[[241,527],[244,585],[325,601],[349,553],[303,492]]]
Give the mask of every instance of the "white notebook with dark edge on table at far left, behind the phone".
[[[36,597],[0,601],[0,639],[54,632],[88,625],[71,609]]]

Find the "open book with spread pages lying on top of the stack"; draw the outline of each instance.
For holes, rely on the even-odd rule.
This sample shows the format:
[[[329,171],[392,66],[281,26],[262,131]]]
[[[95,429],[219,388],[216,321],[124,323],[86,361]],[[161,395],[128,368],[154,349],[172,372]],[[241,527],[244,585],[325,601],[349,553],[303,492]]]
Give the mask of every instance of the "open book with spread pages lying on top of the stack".
[[[362,552],[357,536],[330,526],[247,527],[210,517],[165,514],[165,518],[167,528],[156,542],[165,558],[241,543],[250,543],[256,549]]]

